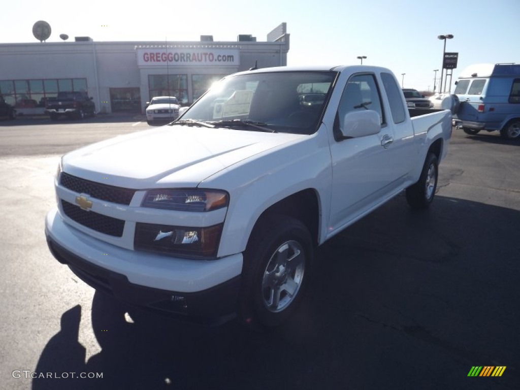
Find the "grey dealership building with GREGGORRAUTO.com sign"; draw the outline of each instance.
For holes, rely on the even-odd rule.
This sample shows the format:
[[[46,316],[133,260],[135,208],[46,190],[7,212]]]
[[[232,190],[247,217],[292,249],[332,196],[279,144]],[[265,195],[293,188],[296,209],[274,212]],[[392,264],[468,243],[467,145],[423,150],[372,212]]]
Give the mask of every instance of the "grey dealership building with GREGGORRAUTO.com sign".
[[[240,34],[217,42],[74,41],[0,44],[0,94],[19,113],[43,112],[60,91],[86,90],[101,113],[144,112],[154,96],[176,96],[183,105],[223,76],[252,67],[287,65],[286,23],[265,42]]]

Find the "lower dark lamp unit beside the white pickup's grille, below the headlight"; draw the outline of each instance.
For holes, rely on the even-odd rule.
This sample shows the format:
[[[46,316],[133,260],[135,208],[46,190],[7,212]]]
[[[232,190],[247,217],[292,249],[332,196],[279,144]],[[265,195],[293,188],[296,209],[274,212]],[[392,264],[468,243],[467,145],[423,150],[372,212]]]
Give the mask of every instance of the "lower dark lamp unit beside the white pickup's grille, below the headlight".
[[[134,248],[186,257],[217,255],[223,224],[186,227],[136,223]]]

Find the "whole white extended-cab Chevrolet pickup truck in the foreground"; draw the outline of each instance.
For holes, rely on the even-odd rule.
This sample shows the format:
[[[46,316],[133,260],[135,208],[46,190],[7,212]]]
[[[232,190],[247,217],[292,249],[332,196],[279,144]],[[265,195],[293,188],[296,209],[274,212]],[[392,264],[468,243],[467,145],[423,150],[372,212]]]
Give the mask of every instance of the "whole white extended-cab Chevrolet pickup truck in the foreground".
[[[415,113],[385,68],[232,74],[171,124],[64,155],[50,251],[123,301],[275,327],[318,245],[403,190],[432,202],[452,114]]]

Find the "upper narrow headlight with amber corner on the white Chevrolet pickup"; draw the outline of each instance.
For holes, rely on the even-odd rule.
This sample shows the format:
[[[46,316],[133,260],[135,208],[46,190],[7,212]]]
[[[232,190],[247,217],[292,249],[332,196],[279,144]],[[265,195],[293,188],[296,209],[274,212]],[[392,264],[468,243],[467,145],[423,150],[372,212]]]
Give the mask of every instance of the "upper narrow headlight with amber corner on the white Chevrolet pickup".
[[[225,191],[218,190],[149,190],[143,207],[177,211],[212,211],[227,207],[229,196]]]

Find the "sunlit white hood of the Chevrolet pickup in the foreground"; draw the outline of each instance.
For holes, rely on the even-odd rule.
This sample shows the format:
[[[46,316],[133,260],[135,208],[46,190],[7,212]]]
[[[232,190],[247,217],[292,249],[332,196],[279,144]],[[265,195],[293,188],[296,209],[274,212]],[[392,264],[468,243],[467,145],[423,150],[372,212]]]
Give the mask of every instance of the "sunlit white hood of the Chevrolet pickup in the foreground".
[[[64,155],[62,166],[71,175],[118,187],[196,187],[239,161],[305,137],[167,125],[78,149]]]

